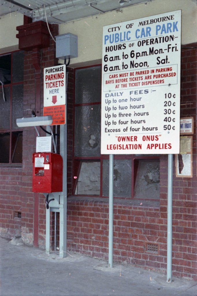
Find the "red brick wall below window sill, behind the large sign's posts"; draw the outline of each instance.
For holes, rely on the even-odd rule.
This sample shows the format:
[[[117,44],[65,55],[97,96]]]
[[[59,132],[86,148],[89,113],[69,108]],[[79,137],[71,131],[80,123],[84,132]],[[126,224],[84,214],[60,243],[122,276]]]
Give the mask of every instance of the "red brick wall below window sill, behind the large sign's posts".
[[[114,261],[166,273],[166,198],[159,207],[132,206],[130,201],[114,200]],[[188,227],[186,219],[176,214],[185,207],[180,207],[175,198],[173,204],[173,275],[197,280],[196,228],[192,222]],[[184,204],[193,206],[190,202]],[[108,260],[108,213],[108,200],[68,198],[68,250]],[[190,218],[194,220],[195,215]]]

